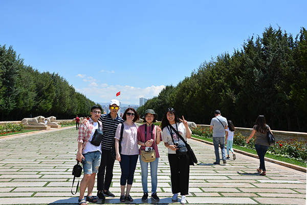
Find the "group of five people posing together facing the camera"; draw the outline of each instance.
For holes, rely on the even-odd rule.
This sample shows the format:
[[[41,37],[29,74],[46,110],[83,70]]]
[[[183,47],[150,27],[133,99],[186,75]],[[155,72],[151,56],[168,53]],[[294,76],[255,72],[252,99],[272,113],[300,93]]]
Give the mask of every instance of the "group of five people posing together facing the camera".
[[[186,203],[186,195],[189,188],[189,165],[188,153],[180,154],[179,147],[185,146],[188,138],[191,138],[191,130],[188,122],[182,116],[180,119],[173,108],[168,108],[161,121],[161,128],[153,125],[158,119],[158,114],[152,109],[144,113],[143,125],[137,126],[139,115],[133,108],[128,108],[122,117],[119,111],[119,101],[111,100],[109,103],[109,114],[101,114],[100,106],[91,108],[91,118],[83,119],[78,133],[77,160],[83,161],[83,178],[80,182],[79,204],[86,205],[86,201],[97,202],[97,199],[104,200],[105,196],[115,197],[109,191],[113,178],[113,167],[115,160],[118,160],[121,167],[121,196],[120,201],[133,201],[130,190],[134,180],[134,172],[140,159],[142,171],[142,201],[148,200],[148,164],[150,165],[151,176],[151,199],[159,201],[157,195],[158,185],[158,146],[161,141],[168,148],[168,161],[171,174],[172,200],[178,201],[178,194],[181,194],[180,202]],[[96,130],[103,130],[103,138],[99,146],[91,144]],[[139,146],[140,145],[140,148]],[[155,160],[146,162],[142,158],[142,151],[154,150]],[[95,177],[97,174],[97,197],[93,196]],[[84,192],[87,188],[86,200]]]

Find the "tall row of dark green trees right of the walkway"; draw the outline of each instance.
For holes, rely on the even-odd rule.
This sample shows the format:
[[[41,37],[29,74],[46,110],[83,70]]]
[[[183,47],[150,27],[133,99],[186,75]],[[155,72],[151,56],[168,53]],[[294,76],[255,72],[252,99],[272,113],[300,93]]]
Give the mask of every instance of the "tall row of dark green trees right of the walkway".
[[[210,124],[214,110],[236,127],[252,128],[258,115],[274,130],[307,132],[307,31],[272,27],[249,38],[232,55],[203,63],[177,86],[166,86],[137,112],[168,107],[197,124]]]

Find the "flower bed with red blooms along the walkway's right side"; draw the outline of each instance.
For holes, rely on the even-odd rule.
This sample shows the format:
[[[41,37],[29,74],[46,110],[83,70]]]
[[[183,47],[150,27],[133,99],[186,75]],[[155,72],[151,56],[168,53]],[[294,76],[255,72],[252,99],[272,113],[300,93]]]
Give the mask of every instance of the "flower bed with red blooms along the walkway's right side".
[[[193,135],[212,139],[212,130],[210,130],[208,127],[205,128],[198,126],[197,128],[191,128],[191,131]],[[255,150],[255,137],[253,137],[248,144],[246,143],[246,139],[247,137],[235,131],[233,136],[233,145]],[[296,138],[290,140],[280,140],[277,141],[274,146],[269,148],[268,153],[296,159],[306,163],[307,142],[298,141]]]

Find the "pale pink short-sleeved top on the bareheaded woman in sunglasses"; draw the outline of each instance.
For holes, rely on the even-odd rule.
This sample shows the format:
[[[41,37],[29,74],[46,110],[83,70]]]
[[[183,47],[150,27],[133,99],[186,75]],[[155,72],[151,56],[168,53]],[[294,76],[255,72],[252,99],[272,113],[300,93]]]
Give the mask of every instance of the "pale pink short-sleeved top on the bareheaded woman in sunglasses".
[[[120,138],[121,124],[118,124],[115,133],[115,138]],[[133,126],[124,124],[123,138],[121,141],[121,153],[123,155],[139,155],[138,146],[138,126],[134,123]]]

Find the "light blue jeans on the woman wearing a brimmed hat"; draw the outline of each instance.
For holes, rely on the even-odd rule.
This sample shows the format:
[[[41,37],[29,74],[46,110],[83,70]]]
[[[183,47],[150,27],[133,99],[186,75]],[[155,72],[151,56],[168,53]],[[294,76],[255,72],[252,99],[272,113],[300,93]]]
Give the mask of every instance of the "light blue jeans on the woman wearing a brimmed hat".
[[[159,162],[159,158],[156,158],[155,161],[144,162],[144,161],[142,161],[141,155],[140,155],[140,165],[141,165],[141,170],[142,170],[142,187],[143,187],[143,192],[148,193],[147,176],[148,176],[148,163],[150,163],[151,193],[157,193],[158,162]]]

